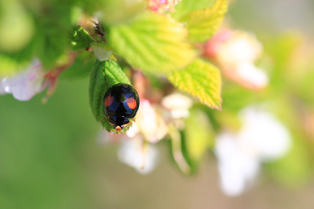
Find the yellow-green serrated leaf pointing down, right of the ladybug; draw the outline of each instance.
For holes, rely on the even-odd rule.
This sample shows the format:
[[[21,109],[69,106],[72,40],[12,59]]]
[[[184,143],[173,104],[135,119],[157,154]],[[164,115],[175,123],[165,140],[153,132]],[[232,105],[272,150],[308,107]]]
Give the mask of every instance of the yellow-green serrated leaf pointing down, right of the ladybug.
[[[168,80],[208,107],[221,110],[221,77],[219,69],[214,65],[196,59],[186,69],[169,73]]]

